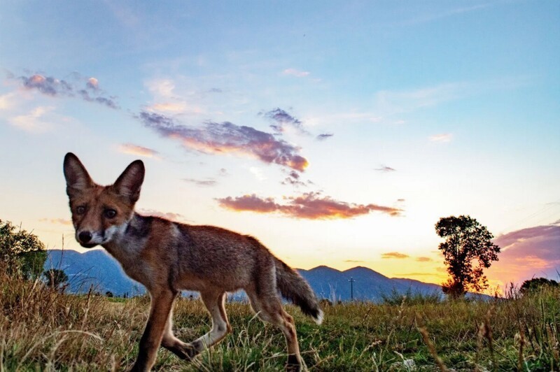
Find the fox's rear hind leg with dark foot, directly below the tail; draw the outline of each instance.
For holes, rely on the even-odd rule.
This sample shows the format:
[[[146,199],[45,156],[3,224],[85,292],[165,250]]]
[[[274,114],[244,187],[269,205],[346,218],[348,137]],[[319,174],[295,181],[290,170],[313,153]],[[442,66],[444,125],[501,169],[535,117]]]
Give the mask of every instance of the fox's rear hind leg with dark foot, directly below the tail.
[[[269,282],[269,284],[272,284]],[[272,286],[271,286],[272,287]],[[276,290],[269,288],[260,288],[258,291],[253,289],[245,289],[251,301],[251,308],[255,310],[260,319],[265,322],[272,323],[279,327],[286,337],[286,346],[288,348],[288,364],[286,371],[301,371],[302,358],[300,355],[300,345],[297,343],[297,334],[295,333],[295,324],[291,317],[282,308],[281,300]]]

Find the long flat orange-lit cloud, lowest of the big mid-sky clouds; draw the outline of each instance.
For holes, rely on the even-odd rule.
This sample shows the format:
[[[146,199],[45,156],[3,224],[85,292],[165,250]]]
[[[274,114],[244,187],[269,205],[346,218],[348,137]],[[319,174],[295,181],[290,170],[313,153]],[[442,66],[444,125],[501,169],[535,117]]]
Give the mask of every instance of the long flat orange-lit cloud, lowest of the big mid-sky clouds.
[[[285,198],[288,202],[279,204],[273,198],[260,198],[255,194],[228,196],[216,199],[222,208],[235,211],[251,211],[256,213],[281,213],[288,217],[308,220],[335,220],[367,215],[371,212],[386,213],[398,216],[401,209],[376,204],[356,204],[337,201],[330,196],[321,196],[318,192],[307,192],[301,196]]]

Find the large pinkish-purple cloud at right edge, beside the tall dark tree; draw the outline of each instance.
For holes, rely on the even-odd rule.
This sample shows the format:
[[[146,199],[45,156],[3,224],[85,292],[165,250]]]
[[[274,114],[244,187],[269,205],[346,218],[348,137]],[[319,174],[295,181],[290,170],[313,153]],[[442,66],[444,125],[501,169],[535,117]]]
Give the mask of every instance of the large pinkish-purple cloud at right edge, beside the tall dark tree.
[[[487,276],[503,283],[533,277],[557,278],[560,271],[560,226],[529,227],[503,234],[493,243],[501,248],[498,262],[488,269]]]

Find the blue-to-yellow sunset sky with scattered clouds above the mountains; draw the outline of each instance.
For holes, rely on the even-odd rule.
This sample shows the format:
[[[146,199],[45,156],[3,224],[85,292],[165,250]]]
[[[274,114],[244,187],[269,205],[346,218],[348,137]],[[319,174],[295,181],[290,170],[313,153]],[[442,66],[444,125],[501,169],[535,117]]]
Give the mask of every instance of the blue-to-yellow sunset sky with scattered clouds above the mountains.
[[[560,271],[560,2],[1,1],[0,219],[73,238],[62,159],[142,159],[137,211],[291,266],[442,282],[435,223],[496,237],[491,285]]]

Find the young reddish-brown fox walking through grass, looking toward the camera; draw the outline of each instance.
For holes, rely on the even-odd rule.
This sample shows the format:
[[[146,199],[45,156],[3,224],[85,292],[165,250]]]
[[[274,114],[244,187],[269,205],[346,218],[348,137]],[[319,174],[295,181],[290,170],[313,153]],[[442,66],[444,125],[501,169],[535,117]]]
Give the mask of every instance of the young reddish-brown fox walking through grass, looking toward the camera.
[[[141,160],[108,186],[94,183],[71,152],[64,157],[63,170],[76,241],[83,248],[101,245],[150,295],[150,313],[131,371],[150,371],[160,346],[189,361],[222,341],[232,332],[226,293],[239,289],[260,320],[281,329],[288,350],[286,370],[304,368],[295,323],[281,296],[317,324],[323,311],[297,271],[253,236],[137,213],[134,206],[145,176]],[[200,292],[212,320],[210,331],[190,343],[176,338],[172,329],[173,304],[181,290]]]

